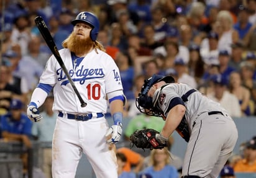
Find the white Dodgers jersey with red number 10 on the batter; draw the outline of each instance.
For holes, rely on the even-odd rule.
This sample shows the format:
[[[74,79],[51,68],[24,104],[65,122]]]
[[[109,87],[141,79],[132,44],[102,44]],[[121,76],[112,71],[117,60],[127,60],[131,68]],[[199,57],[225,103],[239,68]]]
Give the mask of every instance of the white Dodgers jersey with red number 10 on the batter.
[[[122,82],[119,69],[111,56],[101,50],[97,51],[98,54],[92,50],[85,57],[71,60],[70,50],[66,48],[60,50],[60,56],[68,73],[81,97],[87,102],[86,107],[80,107],[80,100],[55,56],[52,55],[47,61],[40,82],[54,85],[53,110],[69,113],[106,113],[106,94],[122,90]]]

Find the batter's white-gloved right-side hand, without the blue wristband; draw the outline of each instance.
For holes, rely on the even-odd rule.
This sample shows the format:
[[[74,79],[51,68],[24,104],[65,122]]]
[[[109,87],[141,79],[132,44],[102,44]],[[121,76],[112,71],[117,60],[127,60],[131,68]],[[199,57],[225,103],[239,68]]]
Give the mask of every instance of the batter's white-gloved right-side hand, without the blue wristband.
[[[117,125],[112,125],[112,127],[109,128],[109,130],[107,130],[107,133],[105,135],[107,138],[111,136],[111,138],[107,140],[107,143],[111,143],[111,144],[117,143],[120,140],[121,135],[122,135],[122,123],[117,123]]]

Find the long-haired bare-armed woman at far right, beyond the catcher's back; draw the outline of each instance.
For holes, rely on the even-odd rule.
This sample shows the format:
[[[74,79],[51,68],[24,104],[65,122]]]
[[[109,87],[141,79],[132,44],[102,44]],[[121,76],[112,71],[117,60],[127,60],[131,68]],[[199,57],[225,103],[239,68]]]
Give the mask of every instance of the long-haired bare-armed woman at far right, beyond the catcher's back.
[[[229,90],[239,99],[242,116],[251,115],[250,110],[250,91],[242,86],[241,76],[238,71],[231,73],[229,78]]]

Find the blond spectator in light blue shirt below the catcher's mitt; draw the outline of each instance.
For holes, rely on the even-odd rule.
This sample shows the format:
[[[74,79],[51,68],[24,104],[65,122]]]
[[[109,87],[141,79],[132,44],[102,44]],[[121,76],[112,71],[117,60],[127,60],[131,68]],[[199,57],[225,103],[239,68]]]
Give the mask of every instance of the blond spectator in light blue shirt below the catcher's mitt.
[[[167,148],[153,149],[150,152],[150,166],[146,167],[142,174],[150,174],[152,178],[178,178],[178,171],[170,166],[170,153]]]

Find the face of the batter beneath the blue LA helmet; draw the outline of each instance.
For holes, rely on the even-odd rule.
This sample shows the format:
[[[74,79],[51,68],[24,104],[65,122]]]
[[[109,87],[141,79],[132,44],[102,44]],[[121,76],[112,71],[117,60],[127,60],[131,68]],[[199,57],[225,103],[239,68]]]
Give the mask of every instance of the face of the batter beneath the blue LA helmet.
[[[78,22],[74,27],[75,36],[78,39],[86,39],[89,37],[92,27],[89,24]]]

